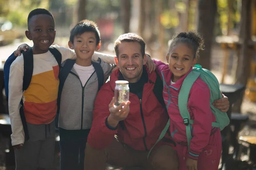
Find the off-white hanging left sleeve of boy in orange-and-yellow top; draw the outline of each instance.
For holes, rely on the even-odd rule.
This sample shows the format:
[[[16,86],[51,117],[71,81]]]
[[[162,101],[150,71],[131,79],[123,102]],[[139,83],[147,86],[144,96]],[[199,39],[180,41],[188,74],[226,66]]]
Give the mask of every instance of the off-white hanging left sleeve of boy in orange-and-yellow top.
[[[21,56],[22,57],[22,56]],[[22,57],[23,58],[23,57]],[[17,60],[17,59],[16,59]],[[20,101],[23,96],[23,69],[13,62],[9,75],[9,115],[12,126],[12,145],[24,144],[24,130],[20,118]]]

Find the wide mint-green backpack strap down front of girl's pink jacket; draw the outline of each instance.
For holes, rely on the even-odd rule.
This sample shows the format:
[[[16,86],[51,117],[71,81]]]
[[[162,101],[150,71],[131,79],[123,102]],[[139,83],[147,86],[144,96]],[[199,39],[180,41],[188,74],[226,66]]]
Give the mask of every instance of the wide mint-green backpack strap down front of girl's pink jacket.
[[[190,119],[187,105],[188,105],[190,89],[192,88],[192,85],[194,84],[195,80],[198,79],[199,76],[200,76],[199,72],[191,71],[184,79],[180,88],[179,96],[178,96],[178,106],[179,106],[180,115],[183,118],[184,125],[186,125],[186,136],[187,136],[188,148],[190,146],[190,141],[192,139],[190,125],[193,124],[193,121]]]

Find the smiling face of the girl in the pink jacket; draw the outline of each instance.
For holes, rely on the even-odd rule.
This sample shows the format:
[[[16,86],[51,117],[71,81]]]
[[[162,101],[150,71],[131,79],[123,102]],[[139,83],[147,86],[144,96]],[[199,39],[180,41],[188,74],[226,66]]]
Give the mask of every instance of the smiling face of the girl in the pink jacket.
[[[197,61],[193,49],[183,42],[179,42],[173,46],[170,53],[166,55],[166,59],[173,74],[173,82],[176,82],[186,74]]]

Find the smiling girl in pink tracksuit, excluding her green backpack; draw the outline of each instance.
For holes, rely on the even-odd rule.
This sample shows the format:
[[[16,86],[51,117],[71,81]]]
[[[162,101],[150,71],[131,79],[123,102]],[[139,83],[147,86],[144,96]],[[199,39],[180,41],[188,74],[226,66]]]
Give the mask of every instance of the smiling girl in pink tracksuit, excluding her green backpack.
[[[180,170],[218,170],[221,158],[220,129],[212,127],[215,116],[210,109],[210,91],[199,77],[193,84],[188,101],[188,111],[194,124],[191,125],[190,150],[186,138],[186,125],[178,108],[178,95],[185,77],[192,71],[203,49],[203,40],[195,31],[177,34],[170,45],[166,59],[169,65],[160,61],[157,72],[165,81],[163,97],[168,106],[170,132],[176,142]]]

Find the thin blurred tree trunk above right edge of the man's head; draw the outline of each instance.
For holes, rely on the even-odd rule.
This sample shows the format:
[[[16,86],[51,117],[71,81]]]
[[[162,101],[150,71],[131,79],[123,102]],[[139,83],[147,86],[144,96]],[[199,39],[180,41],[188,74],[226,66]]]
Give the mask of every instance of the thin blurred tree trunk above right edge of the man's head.
[[[141,37],[144,37],[145,30],[145,20],[146,20],[146,11],[145,11],[146,0],[140,0],[140,16],[139,16],[139,30],[138,33]]]

